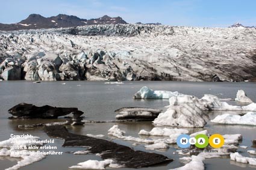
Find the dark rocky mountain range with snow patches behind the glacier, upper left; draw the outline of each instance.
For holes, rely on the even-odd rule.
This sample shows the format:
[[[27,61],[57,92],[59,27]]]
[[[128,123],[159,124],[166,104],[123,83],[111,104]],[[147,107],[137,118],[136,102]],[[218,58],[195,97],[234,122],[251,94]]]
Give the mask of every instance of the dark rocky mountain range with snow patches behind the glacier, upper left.
[[[73,26],[99,25],[99,24],[126,24],[122,17],[103,16],[98,19],[80,19],[76,16],[58,14],[52,17],[43,17],[40,14],[30,14],[27,19],[18,23],[0,23],[1,31],[13,31],[20,29],[40,29],[40,28],[67,28]]]

